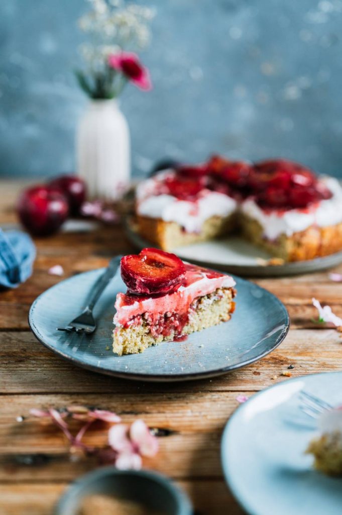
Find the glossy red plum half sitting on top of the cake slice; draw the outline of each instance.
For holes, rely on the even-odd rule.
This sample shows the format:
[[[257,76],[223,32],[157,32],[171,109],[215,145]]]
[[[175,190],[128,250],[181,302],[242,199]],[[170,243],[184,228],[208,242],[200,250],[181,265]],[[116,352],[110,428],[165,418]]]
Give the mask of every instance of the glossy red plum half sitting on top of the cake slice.
[[[185,277],[185,265],[175,254],[146,248],[124,256],[121,277],[133,295],[160,295],[176,290]]]

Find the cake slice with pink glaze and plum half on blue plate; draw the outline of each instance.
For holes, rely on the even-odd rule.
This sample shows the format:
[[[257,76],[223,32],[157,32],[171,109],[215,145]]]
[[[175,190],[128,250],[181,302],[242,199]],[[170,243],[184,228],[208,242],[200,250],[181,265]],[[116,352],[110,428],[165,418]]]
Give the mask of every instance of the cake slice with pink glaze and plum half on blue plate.
[[[162,341],[226,322],[235,309],[235,281],[226,274],[183,263],[154,248],[124,256],[121,277],[127,293],[118,293],[113,351],[142,352]]]

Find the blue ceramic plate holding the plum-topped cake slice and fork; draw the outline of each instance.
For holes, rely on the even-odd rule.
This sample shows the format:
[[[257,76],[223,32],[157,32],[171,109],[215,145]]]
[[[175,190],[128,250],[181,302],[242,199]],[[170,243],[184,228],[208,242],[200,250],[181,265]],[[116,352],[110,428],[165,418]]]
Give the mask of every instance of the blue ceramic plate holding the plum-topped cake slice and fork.
[[[219,375],[265,356],[289,329],[289,315],[274,295],[236,278],[237,308],[229,322],[194,333],[186,341],[165,342],[142,354],[117,356],[112,352],[114,301],[119,291],[125,291],[119,273],[96,305],[98,329],[93,335],[56,330],[82,310],[102,272],[93,270],[58,283],[33,302],[29,313],[30,327],[46,347],[97,372],[147,381]]]

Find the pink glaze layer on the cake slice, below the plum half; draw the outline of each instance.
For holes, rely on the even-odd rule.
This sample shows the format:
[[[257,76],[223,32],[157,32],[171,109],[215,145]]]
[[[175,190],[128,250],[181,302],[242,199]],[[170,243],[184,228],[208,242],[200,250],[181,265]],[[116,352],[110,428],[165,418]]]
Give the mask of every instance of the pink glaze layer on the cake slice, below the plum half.
[[[119,293],[115,302],[115,325],[128,327],[134,317],[143,313],[148,313],[151,318],[168,312],[187,314],[197,297],[209,295],[218,288],[232,288],[236,284],[232,277],[223,273],[188,263],[185,266],[183,283],[171,294],[151,297]]]

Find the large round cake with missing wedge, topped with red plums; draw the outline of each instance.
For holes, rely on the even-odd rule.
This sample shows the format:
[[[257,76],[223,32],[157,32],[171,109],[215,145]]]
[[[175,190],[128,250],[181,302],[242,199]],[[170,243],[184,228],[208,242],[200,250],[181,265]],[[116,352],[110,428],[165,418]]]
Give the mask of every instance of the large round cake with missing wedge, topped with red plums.
[[[139,233],[164,250],[236,230],[284,261],[342,249],[342,187],[284,159],[250,164],[219,156],[179,165],[136,191]]]

